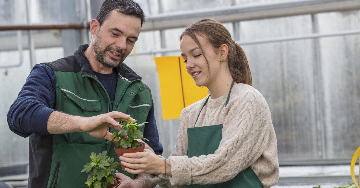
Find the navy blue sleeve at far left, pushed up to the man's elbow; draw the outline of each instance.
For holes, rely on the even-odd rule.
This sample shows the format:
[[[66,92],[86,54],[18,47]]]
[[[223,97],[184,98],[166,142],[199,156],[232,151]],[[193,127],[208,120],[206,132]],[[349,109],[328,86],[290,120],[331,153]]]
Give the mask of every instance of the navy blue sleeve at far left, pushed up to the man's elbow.
[[[55,87],[53,70],[35,65],[6,116],[10,130],[22,137],[50,135],[46,126],[55,107]]]

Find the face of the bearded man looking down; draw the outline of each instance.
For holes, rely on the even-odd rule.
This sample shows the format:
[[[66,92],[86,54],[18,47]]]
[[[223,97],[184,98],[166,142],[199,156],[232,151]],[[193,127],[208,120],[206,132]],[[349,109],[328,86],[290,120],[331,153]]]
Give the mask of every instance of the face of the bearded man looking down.
[[[105,67],[117,67],[134,48],[140,30],[140,18],[113,10],[95,35],[95,59]]]

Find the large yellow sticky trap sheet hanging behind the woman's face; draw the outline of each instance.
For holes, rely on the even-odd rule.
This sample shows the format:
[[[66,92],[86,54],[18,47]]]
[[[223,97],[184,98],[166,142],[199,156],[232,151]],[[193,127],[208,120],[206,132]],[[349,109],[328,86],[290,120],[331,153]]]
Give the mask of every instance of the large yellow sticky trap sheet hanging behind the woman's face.
[[[154,58],[158,69],[162,119],[179,119],[181,110],[208,95],[195,85],[181,56]]]

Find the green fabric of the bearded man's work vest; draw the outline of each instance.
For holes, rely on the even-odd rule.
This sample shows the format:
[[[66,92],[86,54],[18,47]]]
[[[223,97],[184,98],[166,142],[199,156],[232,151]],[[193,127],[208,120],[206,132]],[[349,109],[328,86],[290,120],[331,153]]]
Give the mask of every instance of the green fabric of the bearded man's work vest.
[[[130,80],[118,73],[115,100],[112,106],[105,88],[95,75],[91,74],[92,70],[86,70],[84,73],[84,66],[81,71],[63,70],[63,68],[57,70],[57,65],[46,64],[53,68],[57,77],[56,110],[85,117],[116,110],[131,115],[138,123],[147,120],[152,97],[151,91],[141,82],[141,77],[136,75],[136,79]],[[140,130],[143,132],[144,126],[140,127]],[[115,130],[111,128],[109,131],[113,133]],[[107,143],[106,139],[91,137],[85,132],[55,134],[53,135],[50,176],[49,180],[44,179],[44,181],[48,181],[49,188],[85,188],[87,185],[84,182],[88,174],[81,173],[81,170],[86,163],[90,162],[91,152],[98,154],[106,150],[109,157],[114,157],[118,161],[114,147],[114,143]],[[121,170],[121,167],[117,170],[132,179],[135,178],[134,174]]]

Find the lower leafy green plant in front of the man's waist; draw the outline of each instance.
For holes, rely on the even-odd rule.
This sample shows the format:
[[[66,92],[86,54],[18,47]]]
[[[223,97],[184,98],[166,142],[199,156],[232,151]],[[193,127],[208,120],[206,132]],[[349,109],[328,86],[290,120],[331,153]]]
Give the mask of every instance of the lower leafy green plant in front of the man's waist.
[[[114,158],[106,155],[106,151],[96,155],[94,152],[90,155],[91,162],[84,165],[81,172],[89,173],[85,184],[90,188],[107,188],[108,185],[115,183],[116,168],[120,163],[115,162]]]

